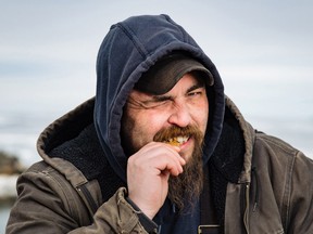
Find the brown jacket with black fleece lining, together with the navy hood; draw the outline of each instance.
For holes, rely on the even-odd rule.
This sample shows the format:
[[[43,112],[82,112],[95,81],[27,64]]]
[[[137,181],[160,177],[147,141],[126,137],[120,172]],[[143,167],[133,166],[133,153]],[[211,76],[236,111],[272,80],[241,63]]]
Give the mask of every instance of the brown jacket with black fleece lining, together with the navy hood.
[[[20,177],[7,233],[197,232],[199,212],[179,216],[166,200],[153,222],[127,202],[123,106],[142,73],[173,51],[189,53],[214,77],[203,165],[221,232],[313,233],[312,161],[243,119],[214,64],[167,15],[111,27],[99,50],[96,99],[39,136],[43,160]]]

